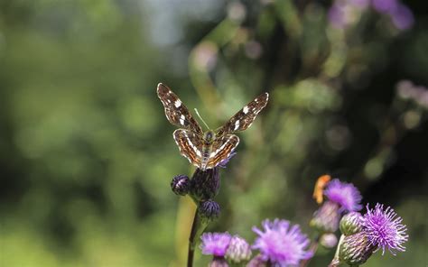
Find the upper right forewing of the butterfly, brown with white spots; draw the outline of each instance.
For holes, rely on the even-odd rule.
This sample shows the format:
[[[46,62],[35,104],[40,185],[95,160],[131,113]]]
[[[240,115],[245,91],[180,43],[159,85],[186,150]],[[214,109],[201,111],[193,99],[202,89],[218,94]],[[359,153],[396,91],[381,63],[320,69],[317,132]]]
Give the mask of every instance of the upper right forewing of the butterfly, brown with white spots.
[[[256,115],[266,106],[269,94],[264,93],[256,97],[253,101],[244,106],[233,115],[226,124],[219,128],[217,136],[232,134],[246,130],[256,119]]]

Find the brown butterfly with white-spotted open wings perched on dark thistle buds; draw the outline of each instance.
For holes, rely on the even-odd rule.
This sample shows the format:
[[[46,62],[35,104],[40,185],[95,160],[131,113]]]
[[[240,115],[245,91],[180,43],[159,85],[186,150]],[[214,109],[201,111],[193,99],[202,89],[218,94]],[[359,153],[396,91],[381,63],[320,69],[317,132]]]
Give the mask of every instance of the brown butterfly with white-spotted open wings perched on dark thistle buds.
[[[212,169],[221,161],[228,159],[239,143],[239,137],[234,133],[251,126],[269,98],[267,93],[256,97],[219,129],[203,132],[189,109],[169,87],[162,83],[158,84],[157,96],[162,101],[168,121],[181,127],[172,134],[181,155],[200,170]]]

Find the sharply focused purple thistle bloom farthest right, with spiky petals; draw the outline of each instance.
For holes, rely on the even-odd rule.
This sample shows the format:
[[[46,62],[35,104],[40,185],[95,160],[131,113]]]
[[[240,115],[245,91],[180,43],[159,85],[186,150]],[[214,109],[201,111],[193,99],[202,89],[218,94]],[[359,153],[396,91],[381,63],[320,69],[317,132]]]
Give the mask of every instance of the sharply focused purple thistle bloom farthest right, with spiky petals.
[[[375,208],[370,209],[367,206],[368,212],[364,216],[364,232],[368,237],[368,241],[376,245],[377,248],[382,247],[382,255],[385,249],[395,255],[395,251],[405,252],[403,245],[409,235],[406,235],[407,228],[402,225],[403,219],[397,216],[394,209],[377,203]]]

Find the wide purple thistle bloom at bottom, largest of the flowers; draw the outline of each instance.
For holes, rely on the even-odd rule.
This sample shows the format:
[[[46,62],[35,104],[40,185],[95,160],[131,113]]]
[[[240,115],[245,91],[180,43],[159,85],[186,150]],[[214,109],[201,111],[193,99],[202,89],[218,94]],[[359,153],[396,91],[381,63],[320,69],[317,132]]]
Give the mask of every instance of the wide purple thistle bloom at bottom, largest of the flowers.
[[[280,219],[273,222],[266,219],[262,226],[263,230],[253,227],[258,237],[252,248],[260,251],[263,261],[285,267],[312,257],[313,253],[305,251],[310,241],[300,226],[291,226],[289,221]]]

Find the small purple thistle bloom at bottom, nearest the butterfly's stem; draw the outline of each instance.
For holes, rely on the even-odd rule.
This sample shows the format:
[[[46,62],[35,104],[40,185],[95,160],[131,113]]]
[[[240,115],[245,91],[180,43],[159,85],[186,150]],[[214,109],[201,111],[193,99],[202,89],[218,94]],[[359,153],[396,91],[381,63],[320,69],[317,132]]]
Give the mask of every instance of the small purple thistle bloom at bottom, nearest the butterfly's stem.
[[[228,233],[205,233],[200,236],[202,254],[224,257],[232,237]]]

